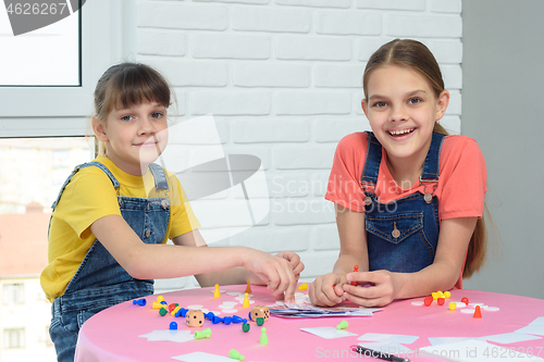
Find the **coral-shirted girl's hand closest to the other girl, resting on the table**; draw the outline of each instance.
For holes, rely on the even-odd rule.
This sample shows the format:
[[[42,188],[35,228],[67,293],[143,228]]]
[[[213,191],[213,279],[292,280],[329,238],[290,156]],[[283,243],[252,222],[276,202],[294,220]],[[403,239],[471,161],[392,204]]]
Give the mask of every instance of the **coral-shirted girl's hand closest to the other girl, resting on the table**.
[[[314,305],[333,307],[343,301],[342,286],[348,283],[346,277],[336,273],[318,276],[308,290],[310,301]]]

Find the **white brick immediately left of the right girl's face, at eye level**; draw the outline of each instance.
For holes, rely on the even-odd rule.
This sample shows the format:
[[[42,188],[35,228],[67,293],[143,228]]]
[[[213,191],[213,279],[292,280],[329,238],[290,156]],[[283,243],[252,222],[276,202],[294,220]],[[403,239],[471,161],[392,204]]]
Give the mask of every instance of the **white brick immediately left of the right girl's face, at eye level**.
[[[276,95],[276,114],[349,114],[351,99],[347,92],[280,91]]]

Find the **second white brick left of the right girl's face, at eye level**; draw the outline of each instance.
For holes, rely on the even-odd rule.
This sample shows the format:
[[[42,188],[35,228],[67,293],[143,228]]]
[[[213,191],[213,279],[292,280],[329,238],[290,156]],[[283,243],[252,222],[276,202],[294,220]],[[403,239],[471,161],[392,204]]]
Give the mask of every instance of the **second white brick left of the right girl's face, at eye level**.
[[[265,115],[270,114],[268,91],[195,91],[189,95],[191,114]]]

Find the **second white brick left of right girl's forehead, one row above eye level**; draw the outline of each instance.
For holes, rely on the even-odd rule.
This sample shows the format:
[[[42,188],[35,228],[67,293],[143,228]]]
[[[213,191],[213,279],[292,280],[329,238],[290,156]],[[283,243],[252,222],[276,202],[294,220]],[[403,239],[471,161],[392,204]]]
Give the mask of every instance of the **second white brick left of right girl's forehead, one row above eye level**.
[[[233,83],[237,87],[310,86],[311,66],[283,63],[240,63],[232,65]]]

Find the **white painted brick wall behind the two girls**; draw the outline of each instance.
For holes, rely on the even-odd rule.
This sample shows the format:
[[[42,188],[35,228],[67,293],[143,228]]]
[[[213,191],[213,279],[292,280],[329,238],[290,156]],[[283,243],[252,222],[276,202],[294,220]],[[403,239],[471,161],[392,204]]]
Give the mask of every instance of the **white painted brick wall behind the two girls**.
[[[452,92],[442,123],[460,130],[461,0],[148,0],[137,35],[138,60],[175,87],[181,117],[213,114],[226,152],[263,162],[270,214],[221,245],[295,250],[305,280],[338,254],[323,195],[338,140],[369,129],[361,84],[374,50],[396,37],[424,42]]]

